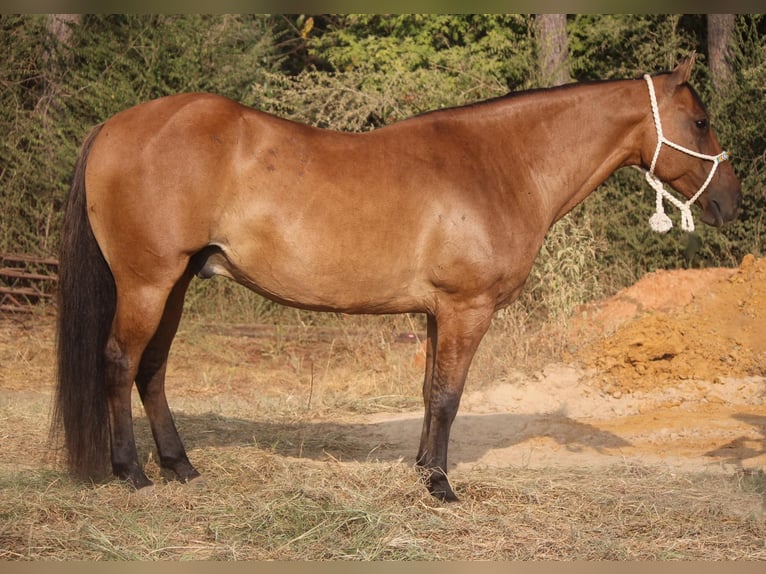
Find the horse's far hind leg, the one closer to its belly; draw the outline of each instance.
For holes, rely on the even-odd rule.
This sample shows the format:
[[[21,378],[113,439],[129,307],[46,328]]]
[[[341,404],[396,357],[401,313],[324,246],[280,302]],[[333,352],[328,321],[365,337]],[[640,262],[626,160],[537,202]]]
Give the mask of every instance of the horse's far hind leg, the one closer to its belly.
[[[160,466],[169,470],[182,482],[200,476],[189,462],[181,437],[165,396],[165,371],[170,345],[175,337],[183,311],[184,295],[192,274],[187,271],[179,280],[165,305],[162,321],[149,342],[139,364],[136,386],[151,425]]]

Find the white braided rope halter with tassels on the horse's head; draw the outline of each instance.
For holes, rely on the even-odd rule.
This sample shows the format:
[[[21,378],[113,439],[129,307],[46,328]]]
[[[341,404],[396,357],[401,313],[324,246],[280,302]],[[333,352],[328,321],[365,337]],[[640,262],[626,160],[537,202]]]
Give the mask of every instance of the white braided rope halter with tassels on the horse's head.
[[[697,198],[702,195],[702,192],[707,189],[707,186],[713,179],[715,170],[718,168],[718,164],[729,159],[729,152],[722,151],[718,155],[707,155],[704,153],[696,152],[694,150],[690,150],[667,139],[662,134],[662,122],[660,121],[660,110],[657,106],[657,96],[654,93],[654,83],[652,82],[652,78],[649,74],[644,74],[644,80],[646,80],[646,84],[649,86],[649,97],[652,101],[654,127],[657,130],[657,147],[654,150],[654,157],[652,158],[652,164],[649,166],[649,171],[646,172],[646,181],[648,181],[649,185],[651,185],[657,192],[656,208],[654,215],[649,218],[649,225],[654,231],[657,231],[658,233],[665,233],[669,231],[671,227],[673,227],[673,222],[670,220],[670,217],[665,214],[665,207],[662,203],[663,199],[667,199],[670,203],[681,210],[681,228],[684,231],[691,232],[694,231],[694,218],[692,217],[691,206],[695,201],[697,201]],[[662,185],[662,182],[656,175],[654,175],[654,167],[657,164],[657,158],[660,156],[660,149],[662,149],[662,144],[667,144],[670,147],[677,149],[678,151],[682,151],[691,156],[713,162],[713,167],[711,168],[705,183],[703,183],[702,187],[699,188],[697,193],[690,197],[689,200],[685,203],[676,199],[673,195],[670,194],[670,192],[666,191],[665,187]]]

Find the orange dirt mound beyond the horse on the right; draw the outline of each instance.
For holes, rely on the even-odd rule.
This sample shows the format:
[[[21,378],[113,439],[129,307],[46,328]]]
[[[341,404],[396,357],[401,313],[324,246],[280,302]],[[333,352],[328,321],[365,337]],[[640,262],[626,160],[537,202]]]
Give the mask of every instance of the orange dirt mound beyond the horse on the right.
[[[572,358],[594,369],[605,390],[623,393],[764,375],[765,315],[766,259],[655,272],[578,318],[578,336],[602,336]]]

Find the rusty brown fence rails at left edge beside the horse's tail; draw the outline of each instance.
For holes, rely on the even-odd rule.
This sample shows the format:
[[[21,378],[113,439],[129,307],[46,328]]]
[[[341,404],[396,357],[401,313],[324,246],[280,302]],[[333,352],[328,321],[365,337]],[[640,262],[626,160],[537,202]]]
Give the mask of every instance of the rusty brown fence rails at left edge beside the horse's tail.
[[[0,311],[31,313],[53,303],[57,272],[55,259],[0,253]]]

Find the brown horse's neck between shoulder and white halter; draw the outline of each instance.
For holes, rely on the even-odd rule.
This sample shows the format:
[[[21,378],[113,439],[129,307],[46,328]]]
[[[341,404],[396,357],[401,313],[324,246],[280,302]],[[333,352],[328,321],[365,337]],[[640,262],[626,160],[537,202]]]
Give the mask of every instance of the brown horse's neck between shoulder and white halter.
[[[506,180],[530,186],[551,223],[618,168],[639,162],[642,130],[651,116],[641,81],[534,92],[503,105],[507,119],[495,137],[504,138],[509,150]]]

